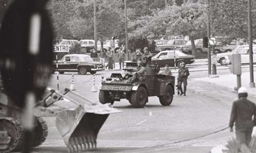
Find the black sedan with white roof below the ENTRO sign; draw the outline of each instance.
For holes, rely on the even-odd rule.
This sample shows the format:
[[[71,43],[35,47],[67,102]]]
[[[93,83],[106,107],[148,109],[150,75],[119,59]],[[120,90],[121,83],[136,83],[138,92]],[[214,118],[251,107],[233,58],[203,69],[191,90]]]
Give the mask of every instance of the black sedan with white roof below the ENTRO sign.
[[[60,74],[64,72],[79,72],[80,74],[90,72],[91,74],[95,74],[97,71],[102,70],[104,70],[102,64],[94,62],[90,56],[84,54],[65,55],[58,61],[58,69],[56,67],[56,61],[53,63],[53,72],[58,71]]]

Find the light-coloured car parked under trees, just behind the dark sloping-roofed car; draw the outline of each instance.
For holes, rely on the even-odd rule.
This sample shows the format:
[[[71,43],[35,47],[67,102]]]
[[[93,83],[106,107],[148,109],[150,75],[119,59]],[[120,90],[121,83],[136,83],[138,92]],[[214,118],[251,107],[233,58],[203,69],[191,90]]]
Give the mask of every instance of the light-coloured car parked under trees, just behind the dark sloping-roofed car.
[[[176,50],[179,50],[181,48],[181,45],[184,45],[187,43],[188,40],[184,39],[175,39],[175,40],[155,40],[156,43],[156,50],[158,52],[163,50],[174,50],[174,47],[177,46]]]

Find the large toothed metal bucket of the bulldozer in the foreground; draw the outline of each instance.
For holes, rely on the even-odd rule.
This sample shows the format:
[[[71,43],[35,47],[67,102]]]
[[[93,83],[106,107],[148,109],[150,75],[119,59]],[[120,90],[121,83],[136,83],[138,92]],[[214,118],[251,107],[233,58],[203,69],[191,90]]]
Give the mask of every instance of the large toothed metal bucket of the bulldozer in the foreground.
[[[97,147],[99,130],[110,113],[120,112],[103,105],[78,106],[57,114],[56,127],[69,152],[93,150]]]

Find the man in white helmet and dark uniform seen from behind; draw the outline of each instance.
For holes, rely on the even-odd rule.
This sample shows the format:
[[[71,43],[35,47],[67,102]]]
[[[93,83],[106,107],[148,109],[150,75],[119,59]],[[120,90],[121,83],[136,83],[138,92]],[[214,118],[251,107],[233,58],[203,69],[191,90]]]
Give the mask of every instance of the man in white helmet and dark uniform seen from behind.
[[[230,132],[233,132],[233,125],[236,123],[236,138],[242,152],[249,150],[253,126],[256,123],[256,106],[247,99],[247,96],[246,88],[240,87],[238,100],[233,102],[229,120]]]

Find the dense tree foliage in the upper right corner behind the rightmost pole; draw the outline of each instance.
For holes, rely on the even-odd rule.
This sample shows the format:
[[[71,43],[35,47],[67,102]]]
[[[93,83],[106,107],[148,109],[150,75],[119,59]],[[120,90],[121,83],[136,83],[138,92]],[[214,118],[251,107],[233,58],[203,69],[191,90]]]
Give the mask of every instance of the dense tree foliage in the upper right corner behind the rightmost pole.
[[[226,43],[237,38],[248,39],[247,0],[203,2],[208,5],[216,35],[227,36]],[[256,3],[252,3],[252,36],[256,39]]]

